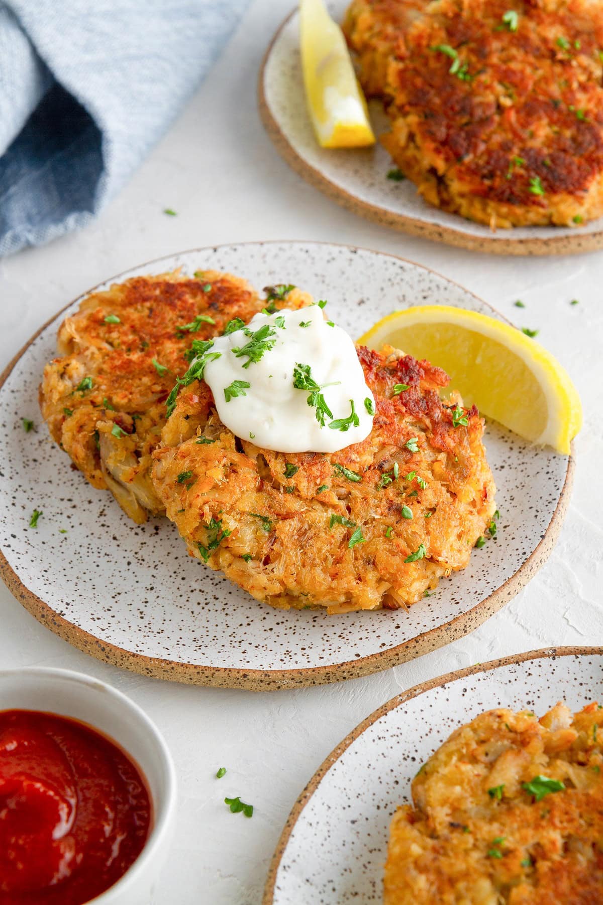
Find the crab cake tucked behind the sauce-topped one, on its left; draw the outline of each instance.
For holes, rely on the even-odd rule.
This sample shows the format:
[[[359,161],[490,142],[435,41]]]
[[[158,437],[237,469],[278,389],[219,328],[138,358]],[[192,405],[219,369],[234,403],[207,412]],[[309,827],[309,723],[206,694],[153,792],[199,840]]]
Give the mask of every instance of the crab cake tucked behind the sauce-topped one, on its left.
[[[165,424],[165,399],[194,338],[249,320],[265,300],[228,273],[134,277],[93,292],[59,329],[44,369],[42,415],[52,438],[97,488],[144,522],[163,511],[149,477]]]

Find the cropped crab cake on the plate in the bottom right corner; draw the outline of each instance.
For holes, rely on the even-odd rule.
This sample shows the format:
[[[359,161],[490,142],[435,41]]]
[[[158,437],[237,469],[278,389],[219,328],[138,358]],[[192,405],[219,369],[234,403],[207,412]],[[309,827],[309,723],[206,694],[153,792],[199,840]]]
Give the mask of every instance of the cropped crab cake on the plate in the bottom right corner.
[[[499,709],[457,729],[391,822],[385,905],[603,901],[603,710]]]

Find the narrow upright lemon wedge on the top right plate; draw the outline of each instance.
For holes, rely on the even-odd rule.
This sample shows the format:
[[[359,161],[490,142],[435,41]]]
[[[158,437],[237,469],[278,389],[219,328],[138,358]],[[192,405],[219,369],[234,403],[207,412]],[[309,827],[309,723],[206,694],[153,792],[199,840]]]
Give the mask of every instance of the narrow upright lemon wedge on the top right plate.
[[[374,145],[363,90],[344,33],[323,0],[300,0],[299,38],[306,100],[321,148]]]

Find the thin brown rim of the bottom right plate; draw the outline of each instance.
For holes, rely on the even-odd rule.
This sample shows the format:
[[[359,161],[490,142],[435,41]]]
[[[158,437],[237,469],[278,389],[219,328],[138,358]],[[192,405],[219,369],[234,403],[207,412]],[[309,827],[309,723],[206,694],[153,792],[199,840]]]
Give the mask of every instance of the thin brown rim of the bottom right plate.
[[[281,834],[278,837],[275,851],[270,859],[269,871],[264,886],[264,894],[262,896],[262,905],[273,905],[274,903],[274,888],[277,882],[278,868],[280,867],[280,862],[285,854],[289,837],[297,824],[300,814],[315,794],[317,787],[325,778],[331,767],[334,767],[334,764],[342,757],[344,752],[352,745],[356,738],[359,738],[363,732],[365,732],[366,729],[369,729],[378,719],[381,719],[385,714],[389,713],[391,710],[395,710],[407,701],[419,697],[419,694],[423,694],[425,691],[431,691],[434,688],[448,685],[449,682],[457,681],[457,679],[465,679],[466,676],[476,675],[478,672],[491,672],[501,666],[510,666],[512,663],[523,663],[528,660],[553,660],[559,657],[568,656],[599,655],[603,655],[603,646],[587,646],[582,644],[541,647],[534,651],[512,653],[506,657],[498,657],[496,660],[490,660],[485,663],[474,663],[473,666],[466,666],[461,670],[445,672],[443,675],[436,676],[433,679],[419,682],[419,684],[413,685],[412,688],[407,689],[407,691],[402,691],[400,694],[395,695],[395,697],[382,704],[381,707],[378,707],[377,710],[373,710],[372,713],[358,723],[351,732],[348,732],[345,738],[343,738],[342,741],[333,748],[331,753],[325,757],[325,760],[320,767],[317,768],[314,775],[308,780],[306,786],[304,786],[301,793],[297,796],[297,799],[287,816],[287,821]]]

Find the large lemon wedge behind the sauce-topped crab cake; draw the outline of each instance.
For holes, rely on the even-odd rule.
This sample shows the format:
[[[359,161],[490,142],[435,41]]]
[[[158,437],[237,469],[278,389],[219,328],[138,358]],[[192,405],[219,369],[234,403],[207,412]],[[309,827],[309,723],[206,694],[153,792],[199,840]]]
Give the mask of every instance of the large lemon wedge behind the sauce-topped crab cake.
[[[540,343],[485,314],[448,305],[419,305],[379,320],[358,340],[389,343],[443,367],[465,405],[532,443],[570,452],[582,405],[566,370]]]

